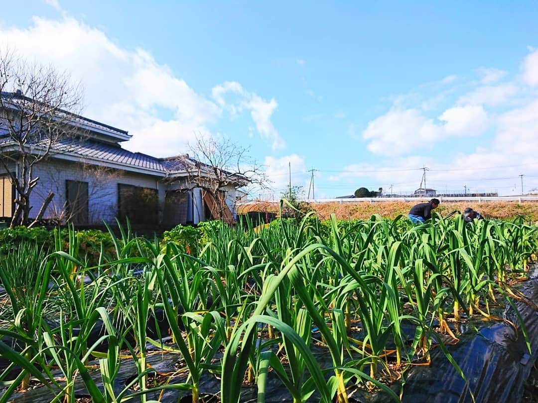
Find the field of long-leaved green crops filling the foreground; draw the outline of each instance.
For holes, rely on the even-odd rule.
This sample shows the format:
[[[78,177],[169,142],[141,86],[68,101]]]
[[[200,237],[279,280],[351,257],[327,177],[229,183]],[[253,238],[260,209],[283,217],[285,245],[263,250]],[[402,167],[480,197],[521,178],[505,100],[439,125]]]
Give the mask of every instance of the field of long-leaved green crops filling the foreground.
[[[162,240],[126,228],[91,251],[77,232],[63,236],[47,250],[24,240],[1,251],[0,402],[34,386],[74,402],[77,383],[98,402],[170,391],[199,401],[206,379],[223,402],[244,385],[265,401],[268,379],[294,402],[346,402],[351,387],[398,401],[402,373],[427,365],[431,349],[458,369],[444,347],[457,343],[452,324],[522,298],[513,285],[538,250],[532,221],[459,214],[419,226],[378,215],[216,222]],[[173,373],[150,364],[155,349],[176,357]],[[118,388],[126,363],[136,376]]]

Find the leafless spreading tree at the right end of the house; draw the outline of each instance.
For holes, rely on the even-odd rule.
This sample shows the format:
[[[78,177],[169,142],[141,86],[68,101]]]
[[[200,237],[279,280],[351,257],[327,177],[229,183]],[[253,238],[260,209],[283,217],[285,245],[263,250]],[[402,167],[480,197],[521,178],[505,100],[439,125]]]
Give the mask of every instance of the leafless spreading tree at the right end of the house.
[[[221,219],[229,215],[226,189],[230,186],[267,187],[265,172],[250,157],[249,149],[228,138],[196,135],[195,142],[189,143],[189,155],[178,159],[185,165],[189,189],[201,188],[208,193],[213,203],[210,210]]]

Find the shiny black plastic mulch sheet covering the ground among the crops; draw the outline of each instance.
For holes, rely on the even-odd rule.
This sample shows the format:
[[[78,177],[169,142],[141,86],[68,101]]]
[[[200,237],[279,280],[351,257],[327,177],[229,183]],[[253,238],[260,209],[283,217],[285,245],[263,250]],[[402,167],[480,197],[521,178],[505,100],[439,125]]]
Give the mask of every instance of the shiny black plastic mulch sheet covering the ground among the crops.
[[[533,303],[538,303],[538,280],[527,281],[520,289]],[[471,322],[460,337],[455,346],[447,346],[451,356],[462,369],[467,382],[459,375],[458,371],[444,356],[441,348],[431,351],[431,364],[429,366],[414,366],[405,372],[406,379],[402,400],[404,402],[472,402],[471,392],[476,402],[508,403],[518,402],[523,399],[525,382],[533,369],[533,364],[538,351],[538,311],[532,306],[515,301],[523,323],[527,330],[529,341],[532,346],[532,355],[528,354],[525,339],[521,334],[519,320],[512,308],[507,304],[502,316],[516,325],[516,328],[507,322],[490,321]],[[162,318],[159,318],[162,319]],[[477,331],[478,330],[478,331]],[[331,367],[329,352],[313,346],[313,354],[322,368]],[[154,351],[148,354],[147,362],[160,373],[172,373],[178,371],[179,355],[169,352]],[[218,358],[218,357],[216,357]],[[179,364],[181,365],[181,364]],[[116,378],[115,390],[119,393],[129,380],[136,377],[136,367],[131,360],[122,361],[119,374]],[[94,379],[100,379],[98,370],[90,372]],[[186,382],[186,373],[169,379],[169,383]],[[97,382],[102,389],[102,384]],[[200,385],[200,393],[219,394],[220,380],[206,376]],[[391,386],[398,394],[401,384]],[[86,395],[87,391],[82,382],[76,382],[77,394]],[[2,391],[0,390],[0,393]],[[284,385],[269,373],[267,380],[267,403],[291,401],[291,395]],[[384,393],[367,393],[359,388],[350,387],[350,401],[385,402],[390,398]],[[147,399],[159,399],[164,403],[178,402],[187,392],[167,390],[147,394]],[[14,394],[12,401],[36,402],[51,401],[54,394],[46,387],[40,386],[33,390]],[[309,401],[316,402],[319,395],[314,394]],[[140,401],[139,398],[130,401]],[[242,402],[257,401],[257,388],[243,386]]]

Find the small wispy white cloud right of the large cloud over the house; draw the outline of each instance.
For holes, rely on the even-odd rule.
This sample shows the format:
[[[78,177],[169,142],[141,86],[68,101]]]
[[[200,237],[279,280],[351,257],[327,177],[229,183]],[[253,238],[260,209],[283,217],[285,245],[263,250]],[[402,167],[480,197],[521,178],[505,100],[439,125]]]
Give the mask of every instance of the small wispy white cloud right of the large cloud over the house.
[[[258,133],[262,138],[272,142],[273,149],[286,147],[284,139],[280,137],[280,134],[271,122],[271,117],[278,107],[278,103],[274,98],[266,101],[256,93],[246,91],[241,84],[233,81],[226,81],[223,84],[216,85],[211,90],[211,93],[216,102],[228,110],[232,116],[237,116],[243,110],[250,111]],[[236,95],[236,99],[231,102],[230,100],[226,100],[226,97],[230,94]]]

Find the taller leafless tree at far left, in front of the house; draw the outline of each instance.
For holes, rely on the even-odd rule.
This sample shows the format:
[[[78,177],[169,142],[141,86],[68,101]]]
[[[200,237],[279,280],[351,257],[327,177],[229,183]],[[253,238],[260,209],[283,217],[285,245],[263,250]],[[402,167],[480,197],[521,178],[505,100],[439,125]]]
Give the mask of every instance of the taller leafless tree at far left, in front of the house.
[[[73,113],[81,105],[82,91],[68,74],[29,63],[10,51],[0,52],[0,91],[0,166],[17,191],[10,226],[27,225],[30,195],[39,181],[34,167],[68,151],[65,140],[82,135],[74,124],[79,117]],[[53,196],[49,194],[45,202]],[[40,213],[45,209],[41,206]]]

